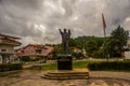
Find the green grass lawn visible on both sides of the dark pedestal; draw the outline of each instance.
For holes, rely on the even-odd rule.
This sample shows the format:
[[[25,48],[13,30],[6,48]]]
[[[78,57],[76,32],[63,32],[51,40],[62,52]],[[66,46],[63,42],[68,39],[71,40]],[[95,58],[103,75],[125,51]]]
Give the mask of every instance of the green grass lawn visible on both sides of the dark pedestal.
[[[87,69],[87,64],[89,61],[87,60],[73,60],[73,69]],[[42,70],[56,70],[57,63],[49,63],[49,64],[43,64]]]

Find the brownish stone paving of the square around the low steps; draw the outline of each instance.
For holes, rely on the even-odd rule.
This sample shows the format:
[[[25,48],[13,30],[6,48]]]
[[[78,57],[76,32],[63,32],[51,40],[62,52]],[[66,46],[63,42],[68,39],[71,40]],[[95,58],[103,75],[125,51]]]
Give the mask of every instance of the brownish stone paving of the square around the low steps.
[[[130,86],[130,73],[119,73],[121,75],[128,75],[128,80],[120,80],[116,77],[117,72],[114,77],[116,78],[107,78],[104,77],[104,74],[108,74],[108,72],[92,72],[90,75],[92,78],[90,80],[66,80],[66,81],[53,81],[53,80],[44,80],[40,76],[44,74],[43,71],[23,71],[10,76],[0,77],[0,86]],[[103,77],[101,77],[101,73]],[[94,75],[95,78],[94,78]],[[113,75],[113,72],[109,73]],[[108,74],[108,75],[109,75]],[[100,77],[98,77],[98,75]],[[107,76],[107,75],[106,75]],[[123,76],[122,76],[123,77]]]

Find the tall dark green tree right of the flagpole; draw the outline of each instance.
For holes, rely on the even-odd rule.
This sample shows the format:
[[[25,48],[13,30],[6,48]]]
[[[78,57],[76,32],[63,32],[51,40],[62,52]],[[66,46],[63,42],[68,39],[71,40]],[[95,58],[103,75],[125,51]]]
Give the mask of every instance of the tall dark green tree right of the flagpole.
[[[106,43],[106,52],[110,56],[121,57],[123,46],[127,44],[129,31],[118,26],[110,34],[109,41]]]

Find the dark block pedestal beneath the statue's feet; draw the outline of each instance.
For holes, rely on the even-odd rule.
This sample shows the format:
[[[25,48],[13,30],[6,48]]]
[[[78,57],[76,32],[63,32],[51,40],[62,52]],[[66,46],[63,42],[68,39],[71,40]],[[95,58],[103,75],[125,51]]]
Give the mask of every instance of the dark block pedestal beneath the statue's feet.
[[[57,70],[73,70],[72,55],[68,54],[57,55]]]

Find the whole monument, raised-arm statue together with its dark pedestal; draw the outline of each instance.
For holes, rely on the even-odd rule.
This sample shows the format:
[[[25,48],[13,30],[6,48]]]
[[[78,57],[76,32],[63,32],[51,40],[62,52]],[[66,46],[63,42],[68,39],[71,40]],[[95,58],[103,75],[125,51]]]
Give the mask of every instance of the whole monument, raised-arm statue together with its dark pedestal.
[[[68,54],[68,40],[70,39],[70,30],[64,29],[62,31],[60,29],[60,33],[62,35],[63,54],[57,55],[57,69],[73,70],[73,57],[70,54]]]

